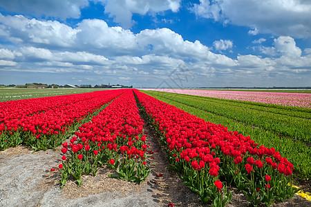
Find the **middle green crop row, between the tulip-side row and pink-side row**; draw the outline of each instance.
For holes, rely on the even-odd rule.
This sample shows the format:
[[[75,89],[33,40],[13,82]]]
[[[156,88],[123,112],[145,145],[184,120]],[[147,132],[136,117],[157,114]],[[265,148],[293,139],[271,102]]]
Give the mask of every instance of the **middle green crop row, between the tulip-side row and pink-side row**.
[[[249,126],[263,128],[281,135],[282,137],[289,137],[290,139],[297,139],[311,143],[311,120],[299,117],[292,117],[288,115],[280,115],[273,112],[256,110],[254,108],[247,108],[245,106],[236,106],[228,104],[228,101],[216,99],[202,99],[196,96],[185,96],[167,92],[151,92],[150,94],[158,95],[172,101],[184,103],[187,106],[193,106],[215,115],[227,117],[240,121]],[[229,102],[230,103],[230,102]],[[236,104],[236,103],[234,103]],[[305,112],[307,113],[307,112]]]

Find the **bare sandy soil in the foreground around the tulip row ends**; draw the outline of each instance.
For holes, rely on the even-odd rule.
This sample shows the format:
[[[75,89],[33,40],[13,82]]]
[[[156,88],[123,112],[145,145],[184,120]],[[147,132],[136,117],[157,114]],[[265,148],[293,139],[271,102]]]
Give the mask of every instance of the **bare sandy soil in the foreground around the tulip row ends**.
[[[28,147],[17,146],[1,151],[0,206],[204,206],[198,195],[182,184],[176,172],[167,169],[166,153],[153,130],[146,125],[144,131],[148,137],[147,165],[151,173],[140,185],[113,179],[109,174],[115,172],[104,167],[95,177],[83,176],[79,188],[75,181],[69,180],[61,189],[59,172],[50,171],[62,163],[61,147],[33,152]],[[229,190],[234,193],[227,206],[250,206],[243,193],[234,188]],[[272,206],[304,207],[311,206],[311,202],[295,195]]]

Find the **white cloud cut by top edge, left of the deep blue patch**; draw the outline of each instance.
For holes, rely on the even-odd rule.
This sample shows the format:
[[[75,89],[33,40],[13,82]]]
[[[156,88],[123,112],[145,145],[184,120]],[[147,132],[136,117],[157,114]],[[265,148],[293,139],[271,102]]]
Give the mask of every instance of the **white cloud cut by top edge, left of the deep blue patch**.
[[[104,6],[104,12],[109,14],[109,17],[123,28],[131,28],[133,26],[132,16],[133,14],[145,15],[148,12],[164,12],[166,10],[171,10],[172,12],[178,12],[180,8],[181,0],[97,0],[101,1]]]

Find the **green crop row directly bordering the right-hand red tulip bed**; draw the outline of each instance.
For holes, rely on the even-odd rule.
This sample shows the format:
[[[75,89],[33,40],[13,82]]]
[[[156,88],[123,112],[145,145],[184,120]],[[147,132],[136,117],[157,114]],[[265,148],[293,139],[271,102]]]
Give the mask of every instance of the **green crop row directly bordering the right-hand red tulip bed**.
[[[210,121],[214,124],[227,126],[228,130],[236,130],[244,136],[250,136],[251,139],[256,141],[259,145],[263,145],[267,148],[275,148],[283,157],[288,158],[288,160],[292,162],[295,172],[299,173],[301,177],[311,179],[311,150],[310,147],[306,146],[301,141],[276,135],[274,132],[263,128],[245,125],[242,122],[201,110],[195,106],[187,106],[185,103],[180,103],[178,101],[173,101],[159,96],[161,95],[161,92],[143,92],[159,99],[160,101],[164,101],[176,106],[177,108],[185,110],[191,115],[196,115],[197,117]]]

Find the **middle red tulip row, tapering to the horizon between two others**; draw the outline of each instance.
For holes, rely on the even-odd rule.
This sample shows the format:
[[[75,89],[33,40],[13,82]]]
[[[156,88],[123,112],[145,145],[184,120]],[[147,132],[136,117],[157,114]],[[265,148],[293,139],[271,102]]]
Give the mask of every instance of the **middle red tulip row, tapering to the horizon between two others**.
[[[145,160],[143,126],[133,92],[127,90],[91,121],[82,124],[69,144],[62,144],[64,155],[59,165],[62,187],[70,177],[80,186],[82,175],[95,176],[104,165],[117,169],[117,174],[111,177],[144,181],[150,170]]]

